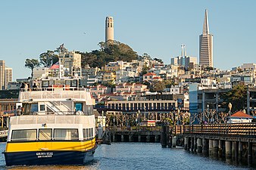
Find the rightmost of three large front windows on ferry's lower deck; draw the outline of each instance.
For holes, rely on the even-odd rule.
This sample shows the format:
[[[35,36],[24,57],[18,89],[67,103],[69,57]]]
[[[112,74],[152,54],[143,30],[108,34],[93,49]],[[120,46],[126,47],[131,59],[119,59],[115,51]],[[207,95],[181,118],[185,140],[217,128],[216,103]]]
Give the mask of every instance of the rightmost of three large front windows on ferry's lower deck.
[[[55,128],[55,140],[78,140],[78,129]]]

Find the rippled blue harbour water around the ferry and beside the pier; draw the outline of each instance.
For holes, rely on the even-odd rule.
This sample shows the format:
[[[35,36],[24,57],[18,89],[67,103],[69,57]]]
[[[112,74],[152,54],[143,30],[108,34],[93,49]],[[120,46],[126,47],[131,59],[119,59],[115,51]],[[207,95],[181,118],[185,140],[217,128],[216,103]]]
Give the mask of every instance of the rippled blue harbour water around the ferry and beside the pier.
[[[1,152],[5,143],[0,143]],[[114,143],[99,145],[95,161],[80,166],[5,166],[3,154],[0,169],[250,169],[188,153],[183,148],[161,148],[161,144]]]

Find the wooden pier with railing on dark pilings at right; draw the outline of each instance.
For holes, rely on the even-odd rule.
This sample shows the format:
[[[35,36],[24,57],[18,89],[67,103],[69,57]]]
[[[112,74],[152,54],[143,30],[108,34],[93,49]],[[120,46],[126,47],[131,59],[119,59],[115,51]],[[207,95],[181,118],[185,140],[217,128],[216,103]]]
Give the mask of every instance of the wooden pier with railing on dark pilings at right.
[[[175,147],[176,138],[182,138],[183,147],[191,153],[198,153],[226,162],[256,161],[256,123],[229,123],[208,125],[176,125],[165,127],[161,138],[163,147]],[[164,128],[162,128],[164,129]],[[175,131],[173,131],[173,129]]]

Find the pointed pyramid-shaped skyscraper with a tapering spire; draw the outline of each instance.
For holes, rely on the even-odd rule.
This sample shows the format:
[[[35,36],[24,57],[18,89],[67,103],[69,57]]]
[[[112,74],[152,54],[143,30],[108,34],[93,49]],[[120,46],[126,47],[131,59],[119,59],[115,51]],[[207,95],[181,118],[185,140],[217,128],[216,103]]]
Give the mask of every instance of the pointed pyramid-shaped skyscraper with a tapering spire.
[[[213,35],[209,32],[208,11],[205,10],[203,34],[199,36],[199,64],[214,67]]]

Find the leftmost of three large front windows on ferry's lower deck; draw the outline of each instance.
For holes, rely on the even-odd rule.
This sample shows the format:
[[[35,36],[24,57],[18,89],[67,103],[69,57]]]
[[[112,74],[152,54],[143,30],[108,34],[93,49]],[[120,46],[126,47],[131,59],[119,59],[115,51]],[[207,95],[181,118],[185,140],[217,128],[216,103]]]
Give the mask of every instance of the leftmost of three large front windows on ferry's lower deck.
[[[14,130],[11,141],[36,141],[36,129]]]

